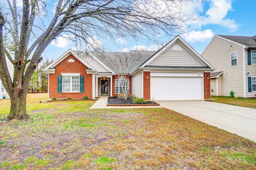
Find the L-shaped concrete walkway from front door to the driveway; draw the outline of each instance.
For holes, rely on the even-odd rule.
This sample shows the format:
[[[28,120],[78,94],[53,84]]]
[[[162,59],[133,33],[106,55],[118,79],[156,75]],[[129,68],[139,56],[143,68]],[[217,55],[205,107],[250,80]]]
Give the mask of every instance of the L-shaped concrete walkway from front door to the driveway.
[[[163,108],[162,106],[107,106],[108,97],[100,97],[91,107],[90,109],[112,109],[112,108],[122,108],[122,109],[130,109],[130,108]]]

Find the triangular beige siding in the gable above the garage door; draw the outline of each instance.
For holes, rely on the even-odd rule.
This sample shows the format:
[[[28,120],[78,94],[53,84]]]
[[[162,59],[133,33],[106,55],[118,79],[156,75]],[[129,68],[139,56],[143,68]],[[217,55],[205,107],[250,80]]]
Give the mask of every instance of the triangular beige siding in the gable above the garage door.
[[[172,51],[173,46],[180,46],[182,51]],[[184,46],[175,42],[154,59],[149,66],[204,66]]]

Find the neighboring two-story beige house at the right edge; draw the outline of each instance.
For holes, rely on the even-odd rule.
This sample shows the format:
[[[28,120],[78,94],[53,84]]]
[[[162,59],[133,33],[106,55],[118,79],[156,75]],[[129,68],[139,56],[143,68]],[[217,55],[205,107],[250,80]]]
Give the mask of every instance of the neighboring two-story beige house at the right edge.
[[[256,96],[256,36],[215,35],[201,55],[216,69],[212,96]]]

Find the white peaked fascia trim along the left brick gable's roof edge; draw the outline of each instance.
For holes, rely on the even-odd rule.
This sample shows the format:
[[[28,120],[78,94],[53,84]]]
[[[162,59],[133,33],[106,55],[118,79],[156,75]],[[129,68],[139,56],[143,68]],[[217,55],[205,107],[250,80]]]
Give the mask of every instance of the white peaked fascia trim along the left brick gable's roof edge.
[[[81,60],[76,53],[74,53],[73,50],[69,49],[66,52],[64,52],[64,54],[62,54],[60,57],[58,57],[56,60],[54,60],[54,62],[52,62],[49,66],[47,66],[44,70],[47,70],[49,68],[54,68],[56,65],[58,65],[60,62],[62,62],[65,58],[67,58],[70,54],[72,54],[76,59],[78,59],[80,62],[82,62],[87,68],[90,68],[92,70],[94,70],[94,68],[92,68],[92,66],[90,66],[90,64],[88,64],[87,62],[85,62],[84,60]]]

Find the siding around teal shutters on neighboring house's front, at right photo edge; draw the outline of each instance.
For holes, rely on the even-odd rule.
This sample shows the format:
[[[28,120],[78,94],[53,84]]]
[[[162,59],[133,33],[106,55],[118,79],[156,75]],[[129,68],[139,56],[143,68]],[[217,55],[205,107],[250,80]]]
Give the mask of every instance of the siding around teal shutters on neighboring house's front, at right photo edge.
[[[254,97],[256,92],[248,92],[248,77],[256,77],[256,64],[248,65],[248,50],[245,51],[245,65],[246,65],[246,97]]]

